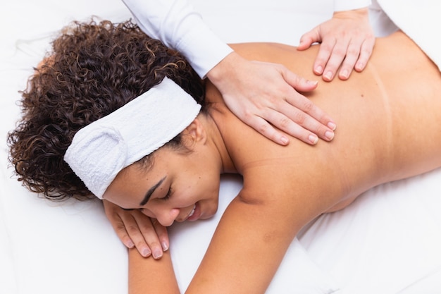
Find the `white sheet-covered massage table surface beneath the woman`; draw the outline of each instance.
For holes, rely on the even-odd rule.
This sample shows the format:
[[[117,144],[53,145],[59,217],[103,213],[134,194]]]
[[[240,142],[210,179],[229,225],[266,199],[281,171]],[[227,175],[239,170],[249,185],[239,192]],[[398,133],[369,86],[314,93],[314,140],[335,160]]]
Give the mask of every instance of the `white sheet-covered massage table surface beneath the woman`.
[[[331,2],[195,0],[194,4],[225,42],[295,45],[302,33],[330,18]],[[49,48],[53,32],[70,20],[88,20],[92,15],[114,21],[130,18],[119,0],[0,4],[2,294],[127,293],[127,250],[113,233],[101,202],[54,203],[37,197],[15,180],[6,160],[4,138],[20,115],[18,90],[24,89],[32,66]],[[381,13],[372,20],[378,35],[394,30]],[[223,178],[216,218],[170,228],[170,250],[182,289],[240,186],[239,178]],[[346,209],[325,214],[304,228],[267,293],[441,293],[440,211],[441,169],[380,185]]]

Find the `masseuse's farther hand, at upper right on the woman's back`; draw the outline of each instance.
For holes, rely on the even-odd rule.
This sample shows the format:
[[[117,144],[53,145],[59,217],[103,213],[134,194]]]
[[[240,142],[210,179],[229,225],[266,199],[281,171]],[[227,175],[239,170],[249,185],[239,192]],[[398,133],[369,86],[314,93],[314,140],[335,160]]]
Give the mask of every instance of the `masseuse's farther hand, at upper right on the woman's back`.
[[[333,80],[340,65],[341,80],[347,80],[353,69],[363,71],[375,44],[368,8],[335,12],[333,18],[304,34],[297,49],[307,49],[314,42],[321,46],[313,72],[323,75],[323,80]]]

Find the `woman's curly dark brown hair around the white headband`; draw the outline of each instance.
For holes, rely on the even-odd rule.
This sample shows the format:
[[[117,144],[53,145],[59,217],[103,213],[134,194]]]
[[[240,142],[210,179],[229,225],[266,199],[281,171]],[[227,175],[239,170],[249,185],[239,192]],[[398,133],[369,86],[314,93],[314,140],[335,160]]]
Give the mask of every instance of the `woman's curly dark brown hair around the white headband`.
[[[73,136],[166,76],[204,106],[204,85],[187,61],[130,20],[65,27],[20,92],[23,118],[8,134],[18,180],[50,200],[91,198],[63,160]]]

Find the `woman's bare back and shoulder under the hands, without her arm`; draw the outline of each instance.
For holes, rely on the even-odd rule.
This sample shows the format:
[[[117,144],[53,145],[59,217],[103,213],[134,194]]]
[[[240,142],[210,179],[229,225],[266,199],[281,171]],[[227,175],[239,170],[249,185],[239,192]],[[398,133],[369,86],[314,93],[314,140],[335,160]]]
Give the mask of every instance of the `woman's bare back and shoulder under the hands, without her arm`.
[[[282,63],[300,76],[316,79],[311,68],[317,47],[308,51],[282,44],[233,47],[248,59]],[[333,142],[309,146],[291,140],[288,147],[280,147],[226,109],[215,120],[222,120],[230,155],[252,197],[256,191],[282,193],[280,186],[299,195],[324,193],[324,212],[344,207],[375,185],[441,165],[440,92],[440,72],[416,44],[397,32],[378,39],[363,73],[353,73],[347,81],[321,81],[317,90],[306,93],[337,122]],[[207,94],[220,101],[210,85]]]

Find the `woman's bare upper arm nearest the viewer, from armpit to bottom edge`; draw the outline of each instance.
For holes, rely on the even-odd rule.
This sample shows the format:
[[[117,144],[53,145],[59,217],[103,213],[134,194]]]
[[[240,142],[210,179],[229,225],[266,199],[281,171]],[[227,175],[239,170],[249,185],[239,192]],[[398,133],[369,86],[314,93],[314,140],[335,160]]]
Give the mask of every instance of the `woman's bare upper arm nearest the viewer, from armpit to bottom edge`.
[[[236,197],[225,210],[187,293],[265,293],[287,247],[307,222],[306,214],[300,215],[302,209],[281,206],[282,201],[268,205]]]

